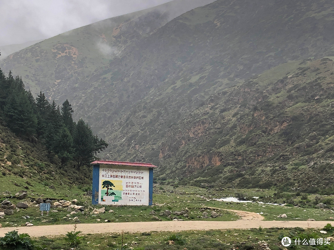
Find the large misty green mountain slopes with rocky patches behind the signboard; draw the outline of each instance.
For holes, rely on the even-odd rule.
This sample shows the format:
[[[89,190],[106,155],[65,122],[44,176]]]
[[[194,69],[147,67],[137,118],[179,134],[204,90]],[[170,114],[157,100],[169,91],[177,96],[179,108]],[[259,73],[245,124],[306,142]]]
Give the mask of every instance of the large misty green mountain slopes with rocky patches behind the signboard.
[[[298,188],[303,169],[306,188],[322,185],[333,161],[332,1],[218,0],[176,18],[159,8],[0,66],[33,93],[72,100],[75,119],[108,141],[102,158],[152,162],[158,181],[270,187],[286,173]]]

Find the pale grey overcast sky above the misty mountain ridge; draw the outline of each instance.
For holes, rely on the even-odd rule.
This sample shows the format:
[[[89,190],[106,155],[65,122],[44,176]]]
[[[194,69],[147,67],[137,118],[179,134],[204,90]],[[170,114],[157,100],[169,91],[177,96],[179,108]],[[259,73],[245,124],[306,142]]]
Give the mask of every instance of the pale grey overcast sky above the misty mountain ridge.
[[[0,46],[50,38],[170,0],[0,0]]]

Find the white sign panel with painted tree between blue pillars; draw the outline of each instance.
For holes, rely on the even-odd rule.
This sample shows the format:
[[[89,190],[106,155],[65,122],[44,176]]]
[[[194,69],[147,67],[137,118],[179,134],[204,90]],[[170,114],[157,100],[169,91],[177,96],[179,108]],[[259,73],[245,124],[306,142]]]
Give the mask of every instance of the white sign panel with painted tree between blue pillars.
[[[149,168],[100,165],[99,184],[99,204],[149,204]]]

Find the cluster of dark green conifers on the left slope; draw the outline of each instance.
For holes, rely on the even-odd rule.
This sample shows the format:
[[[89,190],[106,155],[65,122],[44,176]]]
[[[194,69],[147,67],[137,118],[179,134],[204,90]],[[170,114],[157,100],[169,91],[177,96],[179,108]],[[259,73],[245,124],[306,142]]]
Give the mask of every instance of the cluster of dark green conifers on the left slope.
[[[50,156],[57,156],[61,165],[73,163],[77,169],[87,165],[108,147],[108,143],[94,135],[82,119],[75,123],[68,100],[62,107],[51,104],[44,93],[36,100],[26,91],[22,78],[6,77],[0,69],[0,117],[6,126],[23,139],[38,141]]]

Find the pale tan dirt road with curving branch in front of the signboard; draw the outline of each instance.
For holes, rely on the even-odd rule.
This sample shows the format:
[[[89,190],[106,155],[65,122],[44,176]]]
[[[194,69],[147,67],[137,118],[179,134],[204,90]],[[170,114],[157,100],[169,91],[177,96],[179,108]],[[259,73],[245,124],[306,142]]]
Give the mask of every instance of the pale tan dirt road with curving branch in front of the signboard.
[[[77,224],[77,230],[83,234],[92,233],[120,233],[150,232],[150,231],[186,231],[210,229],[248,229],[270,227],[302,227],[323,228],[328,221],[263,221],[263,217],[256,213],[228,210],[236,213],[241,219],[236,221],[156,221],[156,222],[120,222]],[[334,225],[334,223],[332,223]],[[5,233],[17,230],[19,233],[28,233],[32,237],[63,235],[73,231],[73,225],[48,225],[32,227],[5,227],[0,228],[0,237]]]

